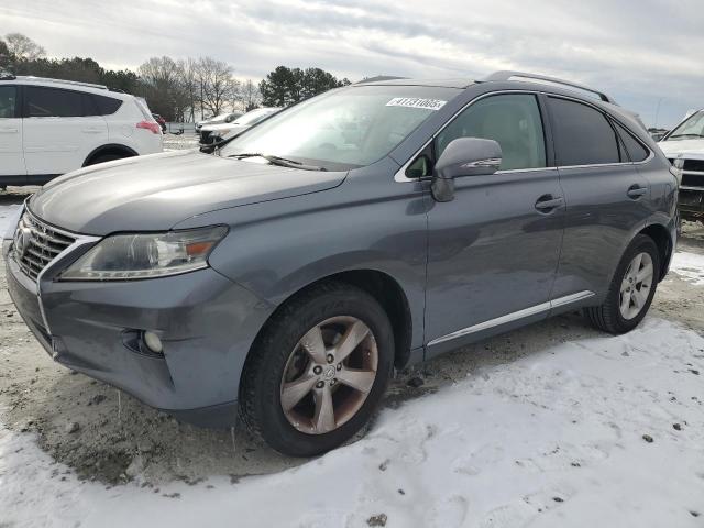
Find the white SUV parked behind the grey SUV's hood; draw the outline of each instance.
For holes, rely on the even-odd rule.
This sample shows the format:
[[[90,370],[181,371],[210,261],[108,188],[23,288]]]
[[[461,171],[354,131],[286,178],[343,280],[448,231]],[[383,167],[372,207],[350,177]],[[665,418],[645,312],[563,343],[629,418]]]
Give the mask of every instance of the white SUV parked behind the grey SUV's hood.
[[[0,188],[162,150],[143,99],[86,82],[0,77]]]

